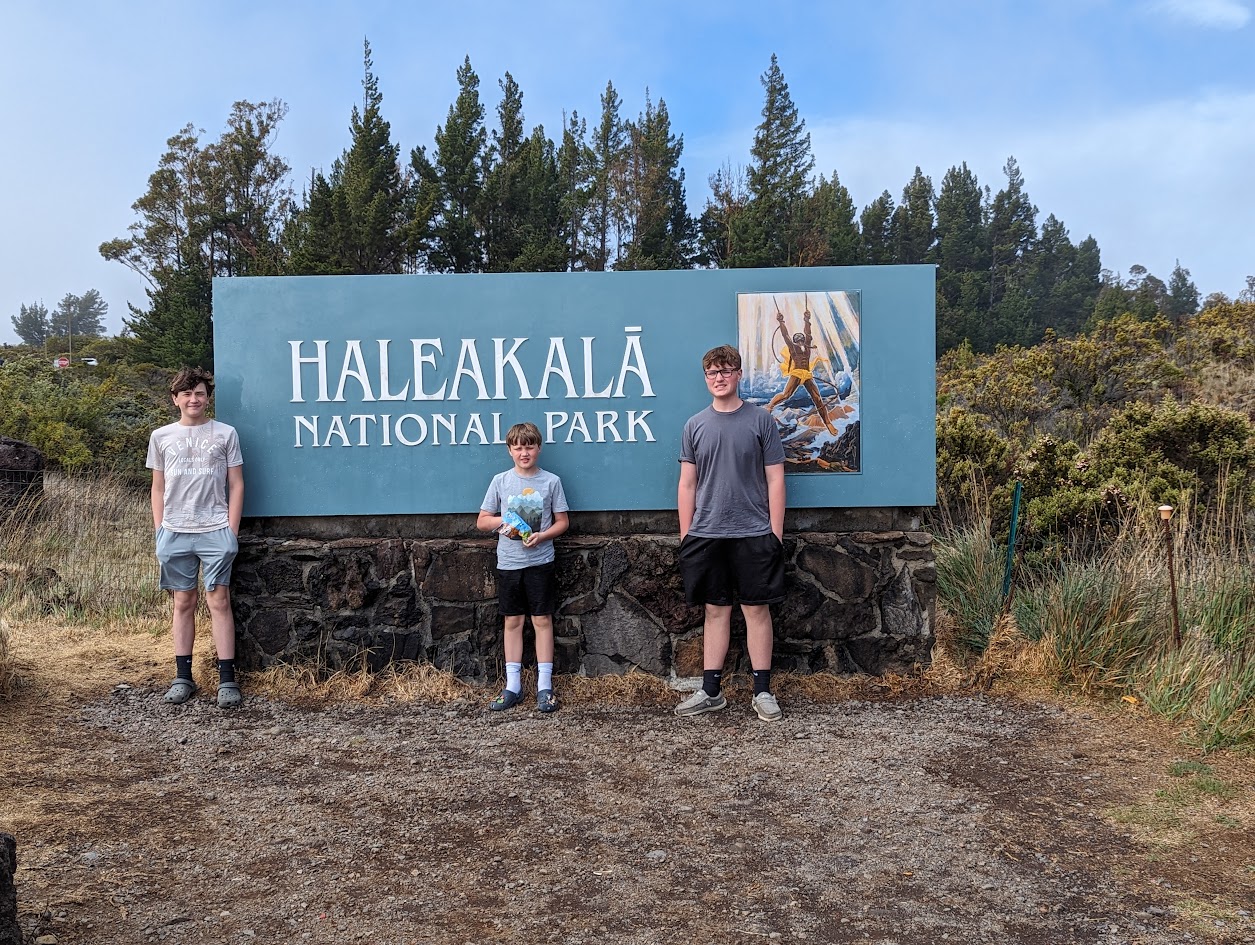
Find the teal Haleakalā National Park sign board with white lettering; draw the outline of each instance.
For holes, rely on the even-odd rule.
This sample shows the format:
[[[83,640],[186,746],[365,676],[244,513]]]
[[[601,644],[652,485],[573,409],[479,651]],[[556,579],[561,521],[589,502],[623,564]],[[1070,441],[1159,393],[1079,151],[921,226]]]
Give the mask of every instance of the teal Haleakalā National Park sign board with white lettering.
[[[675,508],[702,355],[781,427],[792,508],[936,498],[932,266],[216,279],[245,512],[474,512],[506,430],[575,511]]]

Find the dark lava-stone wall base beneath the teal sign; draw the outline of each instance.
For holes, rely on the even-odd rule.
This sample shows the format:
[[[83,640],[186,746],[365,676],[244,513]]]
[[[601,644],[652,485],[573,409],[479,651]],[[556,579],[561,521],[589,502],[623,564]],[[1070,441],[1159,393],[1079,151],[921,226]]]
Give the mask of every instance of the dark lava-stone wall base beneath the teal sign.
[[[828,521],[809,513],[789,523],[914,527],[786,528],[787,597],[772,607],[776,669],[878,675],[929,659],[932,536],[905,512],[832,512]],[[664,532],[674,512],[585,517],[572,516],[571,532],[556,542],[556,671],[700,675],[702,609],[684,604],[679,538]],[[438,527],[415,527],[423,525]],[[596,533],[597,526],[617,533]],[[492,683],[502,671],[494,547],[461,516],[248,522],[232,579],[238,659],[245,668],[287,661],[329,670],[420,660]],[[526,638],[531,661],[530,625]],[[739,611],[727,668],[749,668]]]

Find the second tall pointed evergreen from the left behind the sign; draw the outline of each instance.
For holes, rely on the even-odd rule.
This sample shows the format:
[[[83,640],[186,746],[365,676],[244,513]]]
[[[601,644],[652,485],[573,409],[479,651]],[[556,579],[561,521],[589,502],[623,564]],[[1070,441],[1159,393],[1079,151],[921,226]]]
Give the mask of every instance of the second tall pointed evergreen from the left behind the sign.
[[[483,201],[488,133],[483,127],[479,77],[471,56],[458,67],[458,97],[446,123],[435,129],[430,158],[414,148],[417,179],[413,233],[417,248],[435,272],[479,272],[484,265]]]

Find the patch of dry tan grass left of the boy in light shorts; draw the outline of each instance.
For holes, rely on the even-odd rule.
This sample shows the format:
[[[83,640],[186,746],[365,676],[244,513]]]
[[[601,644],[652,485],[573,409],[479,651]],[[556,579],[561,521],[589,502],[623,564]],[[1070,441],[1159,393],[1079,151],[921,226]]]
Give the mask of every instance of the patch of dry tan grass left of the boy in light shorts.
[[[147,491],[110,476],[46,476],[0,522],[0,609],[72,622],[159,612]]]

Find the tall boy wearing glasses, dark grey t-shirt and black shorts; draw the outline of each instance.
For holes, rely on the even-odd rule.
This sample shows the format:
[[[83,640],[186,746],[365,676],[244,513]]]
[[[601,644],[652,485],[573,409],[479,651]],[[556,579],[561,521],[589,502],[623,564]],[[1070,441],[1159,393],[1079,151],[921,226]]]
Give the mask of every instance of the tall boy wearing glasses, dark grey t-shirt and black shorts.
[[[784,447],[771,414],[737,394],[740,353],[720,345],[702,359],[710,407],[689,418],[680,440],[680,575],[684,599],[705,607],[702,688],[675,708],[681,717],[718,712],[732,606],[745,617],[754,676],[753,708],[776,722],[771,691],[772,614],[784,599]]]

